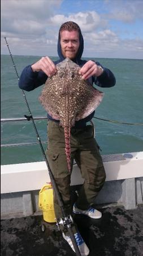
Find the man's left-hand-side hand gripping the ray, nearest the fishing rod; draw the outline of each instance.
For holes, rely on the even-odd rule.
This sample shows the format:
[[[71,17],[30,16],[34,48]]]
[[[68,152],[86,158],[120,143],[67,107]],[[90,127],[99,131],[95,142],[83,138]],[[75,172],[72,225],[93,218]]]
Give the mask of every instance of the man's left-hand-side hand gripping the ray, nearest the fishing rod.
[[[47,76],[53,76],[57,72],[55,64],[49,57],[42,57],[36,63],[31,65],[33,71],[43,71]]]

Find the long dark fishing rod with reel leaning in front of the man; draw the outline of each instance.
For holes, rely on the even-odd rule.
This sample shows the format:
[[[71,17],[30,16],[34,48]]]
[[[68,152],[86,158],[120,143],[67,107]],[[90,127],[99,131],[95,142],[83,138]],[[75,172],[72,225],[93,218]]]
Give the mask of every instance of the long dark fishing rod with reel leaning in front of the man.
[[[14,69],[15,69],[16,75],[18,77],[18,81],[19,81],[18,71],[16,69],[16,66],[15,66],[15,63],[14,63],[14,59],[12,57],[10,48],[8,46],[6,37],[5,37],[5,41],[6,41],[6,45],[7,45],[8,51],[9,51],[10,56],[11,56],[12,63],[14,65]],[[37,137],[38,143],[40,144],[42,154],[44,155],[44,159],[45,159],[45,162],[46,162],[46,165],[47,165],[47,171],[49,172],[49,176],[50,176],[50,179],[51,179],[51,184],[52,184],[52,186],[54,188],[55,195],[57,196],[57,201],[58,201],[59,207],[60,207],[61,212],[62,212],[62,218],[59,221],[57,220],[57,224],[58,225],[62,224],[64,226],[64,228],[66,228],[68,230],[68,233],[70,234],[70,237],[71,237],[71,241],[72,241],[73,247],[75,249],[75,253],[76,253],[77,256],[81,256],[79,247],[77,246],[76,239],[75,239],[75,236],[74,236],[73,231],[72,231],[72,226],[74,225],[73,219],[72,219],[70,214],[66,213],[66,210],[64,208],[62,196],[60,195],[60,192],[58,190],[57,184],[55,183],[55,179],[54,179],[53,173],[51,172],[49,163],[47,161],[47,158],[46,158],[46,155],[45,155],[45,151],[44,151],[44,148],[43,148],[42,143],[41,143],[41,139],[40,139],[40,137],[38,135],[38,131],[37,131],[36,125],[34,123],[34,119],[33,119],[32,113],[31,113],[31,109],[29,108],[28,101],[27,101],[27,98],[25,96],[24,90],[22,90],[22,91],[23,91],[23,97],[24,97],[24,100],[25,100],[25,103],[27,105],[28,112],[29,112],[29,115],[24,115],[24,117],[27,118],[28,121],[30,121],[30,120],[32,121],[32,124],[33,124],[33,127],[34,127],[34,131],[36,132],[36,137]]]

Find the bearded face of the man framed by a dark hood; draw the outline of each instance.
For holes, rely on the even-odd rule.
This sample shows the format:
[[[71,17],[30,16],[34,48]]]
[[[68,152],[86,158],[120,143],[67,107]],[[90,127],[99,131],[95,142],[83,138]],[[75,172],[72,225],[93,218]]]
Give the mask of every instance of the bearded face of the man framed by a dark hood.
[[[80,46],[79,32],[67,30],[60,32],[60,46],[64,57],[75,59]]]

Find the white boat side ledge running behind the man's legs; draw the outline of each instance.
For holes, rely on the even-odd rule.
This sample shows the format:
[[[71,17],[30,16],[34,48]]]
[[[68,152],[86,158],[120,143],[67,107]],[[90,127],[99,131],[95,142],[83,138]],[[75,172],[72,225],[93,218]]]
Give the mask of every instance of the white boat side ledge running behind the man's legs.
[[[130,179],[143,176],[143,152],[103,155],[106,181]],[[1,193],[32,191],[41,189],[50,182],[45,162],[8,164],[1,166]],[[83,184],[80,170],[75,164],[71,185]]]

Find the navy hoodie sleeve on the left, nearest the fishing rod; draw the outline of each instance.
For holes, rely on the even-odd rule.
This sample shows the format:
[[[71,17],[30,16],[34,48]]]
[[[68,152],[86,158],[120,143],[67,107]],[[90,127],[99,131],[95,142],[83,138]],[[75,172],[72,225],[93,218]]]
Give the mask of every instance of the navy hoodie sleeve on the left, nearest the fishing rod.
[[[36,89],[38,86],[45,84],[47,75],[40,72],[33,72],[31,65],[28,65],[23,69],[19,79],[19,88],[27,90],[27,92]]]

